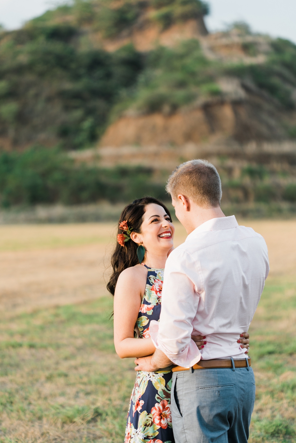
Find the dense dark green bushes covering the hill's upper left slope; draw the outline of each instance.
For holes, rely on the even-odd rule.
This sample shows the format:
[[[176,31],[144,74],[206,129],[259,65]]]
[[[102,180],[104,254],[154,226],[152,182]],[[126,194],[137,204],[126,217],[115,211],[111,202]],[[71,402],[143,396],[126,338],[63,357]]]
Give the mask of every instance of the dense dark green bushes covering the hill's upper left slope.
[[[112,54],[78,51],[70,42],[77,32],[37,23],[0,44],[0,136],[24,144],[42,134],[65,148],[100,136],[121,90],[135,83],[142,55],[131,45]]]

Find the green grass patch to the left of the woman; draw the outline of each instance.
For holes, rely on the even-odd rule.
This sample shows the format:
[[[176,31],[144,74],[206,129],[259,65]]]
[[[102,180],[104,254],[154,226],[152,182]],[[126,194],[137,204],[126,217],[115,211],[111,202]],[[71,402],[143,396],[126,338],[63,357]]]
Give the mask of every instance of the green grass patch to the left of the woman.
[[[135,373],[111,311],[105,297],[1,320],[0,442],[122,440]]]

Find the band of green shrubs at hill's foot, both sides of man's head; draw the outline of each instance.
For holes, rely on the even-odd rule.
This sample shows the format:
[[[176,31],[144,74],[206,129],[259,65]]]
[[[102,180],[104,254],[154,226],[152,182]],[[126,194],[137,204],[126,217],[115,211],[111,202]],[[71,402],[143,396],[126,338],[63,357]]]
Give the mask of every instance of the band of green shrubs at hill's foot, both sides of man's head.
[[[289,177],[277,181],[265,167],[249,165],[234,180],[226,178],[222,166],[218,169],[223,204],[296,202],[296,183]],[[130,202],[147,194],[167,200],[166,179],[167,171],[156,173],[152,167],[76,164],[57,148],[35,146],[0,154],[0,206]]]

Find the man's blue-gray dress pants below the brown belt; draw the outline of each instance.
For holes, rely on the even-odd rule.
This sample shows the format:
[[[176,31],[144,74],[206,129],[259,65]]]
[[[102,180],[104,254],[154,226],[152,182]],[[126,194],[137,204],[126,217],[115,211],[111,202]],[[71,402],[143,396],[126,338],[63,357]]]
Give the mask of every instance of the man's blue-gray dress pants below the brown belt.
[[[254,401],[252,368],[174,372],[175,443],[247,443]]]

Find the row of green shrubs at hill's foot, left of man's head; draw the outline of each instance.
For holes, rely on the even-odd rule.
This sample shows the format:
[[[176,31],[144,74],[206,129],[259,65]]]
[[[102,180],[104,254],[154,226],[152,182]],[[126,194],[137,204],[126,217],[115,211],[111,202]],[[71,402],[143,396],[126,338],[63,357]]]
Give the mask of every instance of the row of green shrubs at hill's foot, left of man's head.
[[[109,200],[131,201],[145,194],[165,198],[151,168],[104,169],[75,165],[57,149],[35,146],[22,153],[0,155],[0,205],[66,205]]]

